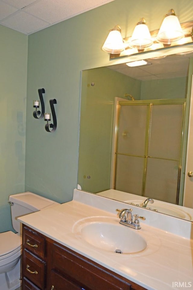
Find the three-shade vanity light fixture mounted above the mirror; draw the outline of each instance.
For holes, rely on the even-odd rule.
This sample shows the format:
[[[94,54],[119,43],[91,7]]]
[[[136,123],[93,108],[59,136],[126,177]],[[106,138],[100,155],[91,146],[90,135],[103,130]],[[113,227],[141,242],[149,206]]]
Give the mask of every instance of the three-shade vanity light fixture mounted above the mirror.
[[[121,37],[121,28],[116,25],[109,33],[102,49],[110,53],[110,59],[136,55],[142,52],[156,52],[170,47],[193,44],[193,21],[179,23],[173,9],[170,9],[160,29],[149,31],[141,18],[130,37]],[[161,53],[163,54],[163,53]]]

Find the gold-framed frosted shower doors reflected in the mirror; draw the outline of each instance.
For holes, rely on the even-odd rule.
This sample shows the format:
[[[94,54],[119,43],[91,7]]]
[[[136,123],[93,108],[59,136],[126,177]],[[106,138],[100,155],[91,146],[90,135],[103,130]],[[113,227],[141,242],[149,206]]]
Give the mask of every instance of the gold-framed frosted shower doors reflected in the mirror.
[[[114,188],[179,204],[185,99],[120,101]]]

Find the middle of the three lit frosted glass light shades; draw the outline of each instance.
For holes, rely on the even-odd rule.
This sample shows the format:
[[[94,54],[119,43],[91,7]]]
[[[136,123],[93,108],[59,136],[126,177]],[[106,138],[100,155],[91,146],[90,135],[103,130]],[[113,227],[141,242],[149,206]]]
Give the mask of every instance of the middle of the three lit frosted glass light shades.
[[[153,44],[150,31],[146,24],[137,24],[134,28],[129,46],[133,48],[143,49]]]

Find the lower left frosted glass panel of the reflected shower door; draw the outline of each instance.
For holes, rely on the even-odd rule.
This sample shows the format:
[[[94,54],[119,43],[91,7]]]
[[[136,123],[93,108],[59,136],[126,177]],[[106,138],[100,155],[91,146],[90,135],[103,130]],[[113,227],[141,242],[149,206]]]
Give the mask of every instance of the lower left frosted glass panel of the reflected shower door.
[[[141,195],[144,160],[143,157],[117,154],[115,189]]]

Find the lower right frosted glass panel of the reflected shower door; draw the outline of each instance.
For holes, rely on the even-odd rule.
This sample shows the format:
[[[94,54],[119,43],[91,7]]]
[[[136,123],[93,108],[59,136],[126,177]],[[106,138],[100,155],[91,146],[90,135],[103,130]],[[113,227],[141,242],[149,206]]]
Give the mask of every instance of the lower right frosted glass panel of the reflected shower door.
[[[176,203],[178,161],[147,158],[145,196]]]

